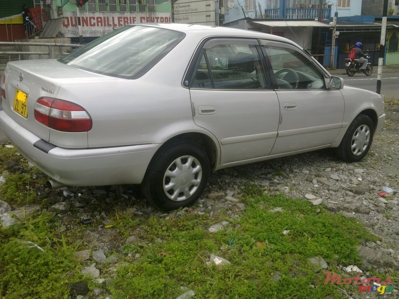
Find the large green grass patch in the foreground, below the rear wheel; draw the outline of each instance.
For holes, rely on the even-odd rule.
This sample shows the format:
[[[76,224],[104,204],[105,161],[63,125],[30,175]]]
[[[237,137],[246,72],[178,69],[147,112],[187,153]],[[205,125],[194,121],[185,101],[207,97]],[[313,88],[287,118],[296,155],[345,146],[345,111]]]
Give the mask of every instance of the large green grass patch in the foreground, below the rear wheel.
[[[245,191],[262,193],[255,189]],[[269,212],[275,207],[284,211]],[[353,219],[283,195],[247,198],[244,214],[225,219],[229,226],[217,233],[206,230],[211,224],[206,219],[196,214],[149,219],[141,226],[141,244],[125,247],[131,258],[118,268],[113,296],[177,298],[186,287],[196,298],[338,298],[341,291],[324,285],[325,276],[308,259],[323,257],[330,271],[339,272],[337,265],[360,262],[362,239],[373,239]],[[210,254],[231,265],[207,265]]]

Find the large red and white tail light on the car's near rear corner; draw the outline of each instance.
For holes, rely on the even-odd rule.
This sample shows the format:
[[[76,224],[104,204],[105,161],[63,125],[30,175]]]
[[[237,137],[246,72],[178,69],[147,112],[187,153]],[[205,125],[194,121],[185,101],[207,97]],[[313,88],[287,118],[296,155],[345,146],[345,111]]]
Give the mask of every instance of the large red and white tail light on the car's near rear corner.
[[[40,124],[62,132],[87,132],[91,117],[81,106],[53,98],[39,98],[34,104],[34,118]]]

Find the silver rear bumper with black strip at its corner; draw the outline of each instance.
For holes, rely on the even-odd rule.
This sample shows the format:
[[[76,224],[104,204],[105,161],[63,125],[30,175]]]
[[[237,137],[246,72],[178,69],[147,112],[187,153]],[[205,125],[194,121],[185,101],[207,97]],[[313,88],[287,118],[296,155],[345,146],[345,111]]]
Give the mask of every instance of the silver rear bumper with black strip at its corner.
[[[51,178],[72,186],[139,184],[160,144],[64,149],[48,144],[0,111],[11,143]]]

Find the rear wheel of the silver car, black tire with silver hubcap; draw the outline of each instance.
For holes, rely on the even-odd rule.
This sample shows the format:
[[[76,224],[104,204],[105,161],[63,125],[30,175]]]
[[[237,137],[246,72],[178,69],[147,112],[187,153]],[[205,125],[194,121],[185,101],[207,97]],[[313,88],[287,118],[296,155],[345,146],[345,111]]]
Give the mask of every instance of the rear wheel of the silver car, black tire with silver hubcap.
[[[201,145],[177,143],[161,149],[143,181],[146,198],[162,210],[176,210],[197,201],[207,184],[209,158]]]

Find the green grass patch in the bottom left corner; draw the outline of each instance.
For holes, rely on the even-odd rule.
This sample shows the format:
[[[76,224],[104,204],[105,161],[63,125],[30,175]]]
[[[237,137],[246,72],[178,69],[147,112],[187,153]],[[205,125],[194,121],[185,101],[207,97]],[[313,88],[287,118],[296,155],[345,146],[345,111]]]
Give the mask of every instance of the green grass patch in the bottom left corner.
[[[82,280],[74,248],[54,233],[52,217],[42,213],[0,228],[1,298],[69,298],[68,284]]]

